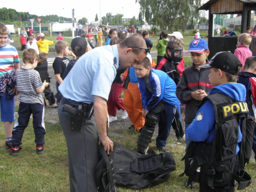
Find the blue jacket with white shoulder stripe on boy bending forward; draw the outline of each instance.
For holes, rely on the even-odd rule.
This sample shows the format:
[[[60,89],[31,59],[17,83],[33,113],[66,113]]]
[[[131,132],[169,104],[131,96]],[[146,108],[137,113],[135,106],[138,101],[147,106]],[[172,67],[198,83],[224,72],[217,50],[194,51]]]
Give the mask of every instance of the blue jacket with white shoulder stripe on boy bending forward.
[[[154,90],[154,94],[151,94],[146,89],[144,78],[138,78],[138,83],[143,109],[146,108],[146,110],[150,110],[154,108],[160,100],[164,100],[169,104],[176,106],[176,84],[165,72],[150,69],[149,83],[151,88]]]

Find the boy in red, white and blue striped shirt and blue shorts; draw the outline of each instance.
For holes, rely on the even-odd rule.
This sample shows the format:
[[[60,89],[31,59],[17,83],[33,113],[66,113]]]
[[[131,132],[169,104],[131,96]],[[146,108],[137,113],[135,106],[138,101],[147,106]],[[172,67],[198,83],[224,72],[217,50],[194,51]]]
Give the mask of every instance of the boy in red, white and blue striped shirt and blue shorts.
[[[12,122],[14,116],[15,70],[20,68],[16,48],[7,44],[8,28],[0,23],[0,103],[1,121],[6,132],[5,148],[12,146]]]

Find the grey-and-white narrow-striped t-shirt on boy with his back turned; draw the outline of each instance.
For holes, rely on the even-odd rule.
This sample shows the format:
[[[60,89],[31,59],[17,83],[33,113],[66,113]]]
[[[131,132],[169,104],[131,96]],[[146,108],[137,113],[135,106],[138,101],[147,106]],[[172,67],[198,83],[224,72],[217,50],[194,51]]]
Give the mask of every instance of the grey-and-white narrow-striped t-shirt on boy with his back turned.
[[[36,92],[37,88],[43,86],[39,73],[36,70],[17,69],[15,79],[17,90],[20,92],[20,102],[43,104],[42,95]]]

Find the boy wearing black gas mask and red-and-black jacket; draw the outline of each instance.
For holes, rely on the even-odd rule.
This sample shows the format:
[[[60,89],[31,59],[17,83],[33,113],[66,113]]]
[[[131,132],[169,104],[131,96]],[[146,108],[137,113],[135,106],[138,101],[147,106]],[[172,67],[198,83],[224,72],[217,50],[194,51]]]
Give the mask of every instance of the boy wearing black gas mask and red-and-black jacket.
[[[168,76],[175,82],[177,85],[180,81],[180,72],[177,68],[177,65],[182,60],[183,49],[180,48],[180,44],[176,40],[170,40],[166,45],[166,54],[160,60],[159,64],[156,66],[156,69],[162,70],[168,74]],[[185,135],[180,122],[180,101],[177,100],[177,110],[174,115],[174,120],[172,122],[172,128],[175,131],[175,135],[178,140],[183,140],[185,142]]]

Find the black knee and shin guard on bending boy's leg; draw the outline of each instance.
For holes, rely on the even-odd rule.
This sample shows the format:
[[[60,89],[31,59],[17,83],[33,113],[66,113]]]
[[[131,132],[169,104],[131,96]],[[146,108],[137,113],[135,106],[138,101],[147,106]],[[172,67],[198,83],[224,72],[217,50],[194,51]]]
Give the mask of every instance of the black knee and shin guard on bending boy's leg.
[[[138,152],[140,149],[146,150],[148,148],[148,144],[154,134],[155,126],[159,121],[159,113],[164,110],[164,106],[161,103],[158,103],[156,107],[148,112],[145,118],[145,124],[142,127],[142,131],[140,133],[140,137],[138,138]]]

